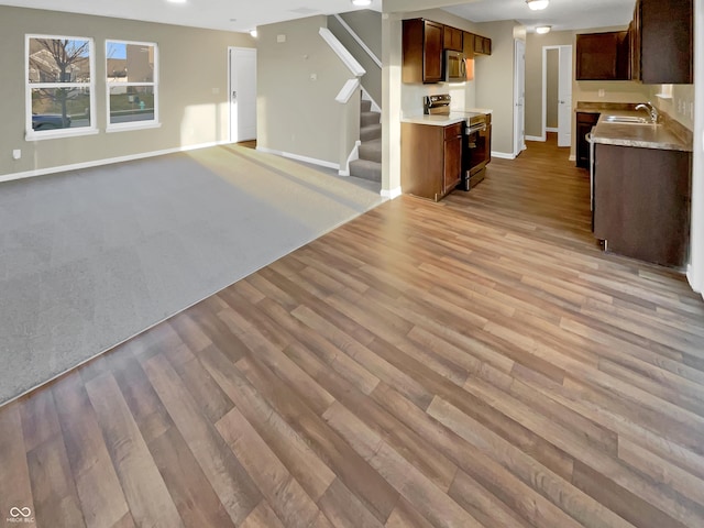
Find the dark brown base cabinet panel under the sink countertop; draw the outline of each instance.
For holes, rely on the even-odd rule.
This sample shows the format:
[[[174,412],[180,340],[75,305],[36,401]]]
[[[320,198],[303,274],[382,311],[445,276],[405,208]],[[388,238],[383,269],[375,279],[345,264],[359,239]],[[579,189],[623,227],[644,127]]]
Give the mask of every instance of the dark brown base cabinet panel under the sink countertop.
[[[595,145],[594,235],[614,253],[666,266],[686,262],[690,152]]]

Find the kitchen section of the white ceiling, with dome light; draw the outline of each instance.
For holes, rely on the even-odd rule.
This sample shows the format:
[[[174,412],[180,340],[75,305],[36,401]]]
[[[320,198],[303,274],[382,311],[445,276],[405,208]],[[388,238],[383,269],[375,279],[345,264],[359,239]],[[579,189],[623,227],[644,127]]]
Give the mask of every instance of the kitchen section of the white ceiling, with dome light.
[[[516,20],[532,31],[551,25],[552,31],[628,25],[636,0],[550,0],[542,11],[531,11],[526,0],[479,0],[444,8],[473,22]]]

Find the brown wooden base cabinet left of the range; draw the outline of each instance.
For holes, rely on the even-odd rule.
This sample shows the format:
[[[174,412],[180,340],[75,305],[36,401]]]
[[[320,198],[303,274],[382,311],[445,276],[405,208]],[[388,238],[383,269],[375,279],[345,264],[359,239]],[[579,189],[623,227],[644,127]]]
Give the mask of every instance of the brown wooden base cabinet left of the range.
[[[400,185],[404,193],[438,201],[462,177],[464,122],[437,127],[402,123]]]

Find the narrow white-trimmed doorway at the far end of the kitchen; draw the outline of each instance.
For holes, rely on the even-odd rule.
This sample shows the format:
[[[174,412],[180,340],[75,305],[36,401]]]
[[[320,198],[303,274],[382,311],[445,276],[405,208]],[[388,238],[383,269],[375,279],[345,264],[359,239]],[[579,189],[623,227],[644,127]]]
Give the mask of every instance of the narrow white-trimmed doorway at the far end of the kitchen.
[[[558,133],[558,146],[572,144],[572,46],[542,47],[542,139]]]

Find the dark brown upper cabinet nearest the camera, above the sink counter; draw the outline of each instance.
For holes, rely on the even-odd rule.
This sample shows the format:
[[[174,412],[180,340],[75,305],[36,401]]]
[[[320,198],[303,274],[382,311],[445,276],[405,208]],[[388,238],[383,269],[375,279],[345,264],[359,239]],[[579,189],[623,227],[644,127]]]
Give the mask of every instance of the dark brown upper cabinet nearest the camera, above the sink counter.
[[[693,0],[639,0],[631,41],[631,77],[644,84],[693,82]]]

